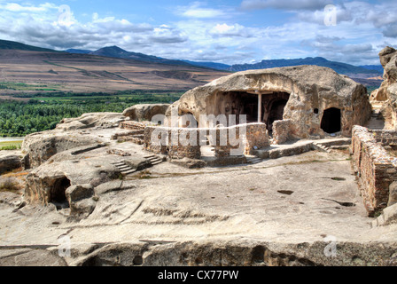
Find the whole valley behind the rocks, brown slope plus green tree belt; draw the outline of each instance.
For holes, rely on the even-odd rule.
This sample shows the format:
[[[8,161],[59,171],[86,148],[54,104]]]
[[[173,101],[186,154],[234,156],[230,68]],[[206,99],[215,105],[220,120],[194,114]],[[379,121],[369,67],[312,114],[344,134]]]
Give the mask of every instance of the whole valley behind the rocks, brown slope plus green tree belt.
[[[173,103],[185,91],[229,74],[42,49],[2,50],[0,136],[52,130],[63,118],[84,113],[121,113],[136,104]]]

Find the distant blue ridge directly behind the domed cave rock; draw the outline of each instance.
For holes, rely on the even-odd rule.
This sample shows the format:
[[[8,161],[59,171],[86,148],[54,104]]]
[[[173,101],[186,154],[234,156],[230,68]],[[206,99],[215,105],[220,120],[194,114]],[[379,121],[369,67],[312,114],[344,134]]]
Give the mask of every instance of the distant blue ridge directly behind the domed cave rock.
[[[371,76],[379,75],[378,70],[356,67],[350,64],[330,61],[322,57],[308,57],[306,59],[275,59],[275,60],[262,60],[259,63],[254,64],[239,64],[230,67],[230,71],[245,71],[250,69],[267,69],[274,67],[290,67],[290,66],[300,66],[300,65],[316,65],[321,67],[329,67],[335,72],[344,75],[355,75],[355,74],[369,74]]]

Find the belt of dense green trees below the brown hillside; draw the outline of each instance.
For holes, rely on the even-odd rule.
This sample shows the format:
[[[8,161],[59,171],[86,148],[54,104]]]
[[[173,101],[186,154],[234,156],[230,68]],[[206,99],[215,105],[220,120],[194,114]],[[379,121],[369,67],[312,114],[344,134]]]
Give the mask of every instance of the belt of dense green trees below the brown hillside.
[[[181,93],[143,94],[136,93],[125,98],[98,96],[43,101],[30,99],[28,102],[0,100],[0,136],[22,137],[27,134],[52,130],[63,118],[79,117],[85,113],[121,113],[129,106],[140,103],[168,103],[180,98]]]

